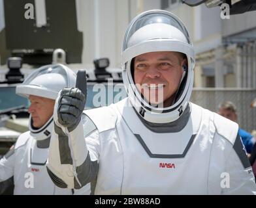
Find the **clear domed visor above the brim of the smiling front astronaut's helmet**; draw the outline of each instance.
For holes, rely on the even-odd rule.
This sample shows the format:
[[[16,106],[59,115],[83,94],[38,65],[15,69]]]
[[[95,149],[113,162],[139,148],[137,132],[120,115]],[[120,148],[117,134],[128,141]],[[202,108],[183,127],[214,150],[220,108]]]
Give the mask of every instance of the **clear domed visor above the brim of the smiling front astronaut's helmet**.
[[[123,51],[148,40],[176,38],[192,45],[189,33],[178,17],[164,10],[144,12],[131,21],[125,34]]]

